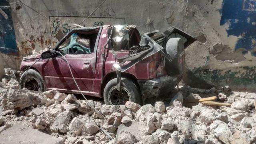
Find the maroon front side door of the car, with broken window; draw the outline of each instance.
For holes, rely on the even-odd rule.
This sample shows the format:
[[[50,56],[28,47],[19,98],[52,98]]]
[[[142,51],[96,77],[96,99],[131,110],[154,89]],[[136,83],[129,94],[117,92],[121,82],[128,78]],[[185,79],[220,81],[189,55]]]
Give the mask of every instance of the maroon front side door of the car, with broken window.
[[[77,42],[72,42],[72,36],[76,36],[76,33],[68,34],[66,36],[65,41],[69,41],[68,45],[62,48],[57,48],[56,50],[60,51],[64,57],[56,54],[54,58],[50,58],[44,62],[44,81],[46,83],[46,88],[53,89],[57,88],[59,90],[79,93],[79,89],[76,86],[78,84],[80,90],[84,94],[88,94],[94,96],[95,94],[92,93],[93,83],[94,83],[94,71],[95,71],[95,63],[96,63],[96,48],[98,45],[98,31],[87,30],[83,32],[83,34],[87,34],[88,38],[90,38],[90,52],[79,53],[76,54],[79,50],[70,49],[72,46],[83,47]],[[95,34],[94,34],[95,33]],[[92,35],[93,38],[90,37]],[[71,37],[70,40],[68,40]],[[75,38],[77,40],[77,38]],[[96,40],[94,40],[96,39]],[[62,41],[62,40],[61,40]],[[64,43],[64,42],[62,42]],[[65,44],[58,44],[58,46],[65,45]],[[57,46],[57,47],[58,47]],[[72,47],[73,48],[73,47]],[[74,51],[76,51],[74,53]],[[80,49],[81,51],[81,49]],[[68,67],[70,65],[72,74]],[[76,83],[74,82],[74,79]]]

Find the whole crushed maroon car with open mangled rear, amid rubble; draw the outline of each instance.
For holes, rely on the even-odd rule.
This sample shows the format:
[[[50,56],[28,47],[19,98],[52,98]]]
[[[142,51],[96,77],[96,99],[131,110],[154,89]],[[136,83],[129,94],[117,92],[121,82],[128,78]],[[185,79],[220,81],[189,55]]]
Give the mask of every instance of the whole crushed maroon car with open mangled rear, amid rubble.
[[[157,32],[141,37],[133,25],[75,28],[53,50],[23,58],[20,87],[142,104],[180,82],[184,49],[196,40],[175,27]]]

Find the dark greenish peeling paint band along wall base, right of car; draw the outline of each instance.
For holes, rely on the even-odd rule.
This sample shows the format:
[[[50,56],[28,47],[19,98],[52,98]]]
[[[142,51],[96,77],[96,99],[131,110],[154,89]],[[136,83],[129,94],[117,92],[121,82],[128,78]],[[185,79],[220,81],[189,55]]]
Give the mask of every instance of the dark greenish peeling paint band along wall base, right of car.
[[[255,91],[255,74],[256,66],[234,68],[224,73],[220,70],[203,70],[202,68],[188,71],[188,76],[191,77],[191,84],[195,87],[212,88],[213,86],[229,85],[234,91]]]

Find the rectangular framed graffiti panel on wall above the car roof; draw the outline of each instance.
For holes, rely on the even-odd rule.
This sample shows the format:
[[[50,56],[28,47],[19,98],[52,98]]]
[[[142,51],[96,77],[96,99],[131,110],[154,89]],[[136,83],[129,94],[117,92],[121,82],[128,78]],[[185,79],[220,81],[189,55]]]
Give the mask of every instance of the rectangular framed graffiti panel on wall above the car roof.
[[[68,26],[74,26],[73,24],[79,24],[86,17],[78,16],[50,16],[50,20],[54,23],[50,23],[50,32],[52,36],[57,39],[61,38],[69,32],[72,28]],[[125,18],[106,18],[106,17],[90,17],[82,26],[95,27],[103,25],[118,25],[125,24]]]

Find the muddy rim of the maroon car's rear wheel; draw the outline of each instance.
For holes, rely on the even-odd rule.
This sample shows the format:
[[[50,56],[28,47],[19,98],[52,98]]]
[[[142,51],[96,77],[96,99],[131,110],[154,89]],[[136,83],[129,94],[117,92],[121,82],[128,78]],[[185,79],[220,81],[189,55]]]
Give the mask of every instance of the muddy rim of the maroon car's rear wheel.
[[[117,86],[114,86],[108,92],[108,101],[112,105],[125,104],[127,101],[131,101],[132,97],[127,88],[121,86],[121,91],[119,92]]]

